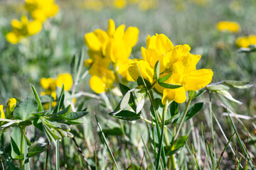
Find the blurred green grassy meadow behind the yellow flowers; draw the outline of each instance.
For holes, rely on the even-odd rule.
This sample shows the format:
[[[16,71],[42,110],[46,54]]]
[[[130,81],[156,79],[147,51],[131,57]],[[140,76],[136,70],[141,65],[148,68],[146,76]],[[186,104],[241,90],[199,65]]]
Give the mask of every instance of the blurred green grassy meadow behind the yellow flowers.
[[[24,15],[31,19],[31,16],[24,7],[25,1],[0,0],[1,104],[5,104],[12,97],[31,96],[29,84],[33,84],[39,92],[43,91],[40,85],[43,77],[57,77],[61,73],[70,73],[73,56],[82,51],[86,54],[85,33],[97,28],[107,30],[107,23],[112,18],[116,26],[125,24],[126,27],[139,28],[139,41],[132,49],[135,58],[142,57],[140,49],[146,46],[148,35],[163,33],[174,45],[188,44],[191,46],[191,53],[202,55],[197,69],[213,69],[212,82],[252,81],[254,86],[250,89],[230,89],[230,94],[243,103],[242,106],[234,102],[230,105],[236,113],[249,115],[250,118],[255,119],[256,54],[238,52],[240,47],[247,47],[247,44],[256,45],[256,38],[254,42],[244,45],[248,36],[256,34],[255,0],[56,0],[54,2],[58,5],[58,13],[43,22],[41,31],[12,44],[6,40],[6,35],[12,29],[11,21],[13,19],[20,21],[21,16]],[[235,22],[239,26],[238,30],[220,29],[218,27],[220,21]],[[246,40],[239,41],[241,37]],[[85,58],[88,58],[87,54]],[[80,91],[93,94],[88,79],[90,76],[82,82]],[[219,98],[213,96],[214,106],[220,105],[218,101]],[[90,112],[99,110],[98,106],[90,105],[90,102],[92,101],[85,103]],[[206,116],[201,112],[195,122],[197,121],[198,125],[200,121],[207,122],[209,132],[207,109],[204,108]],[[219,110],[222,113],[224,109],[216,108],[216,113]],[[243,120],[245,125],[241,129],[251,126],[250,121],[252,120]],[[220,120],[220,123],[227,122],[227,119]],[[107,124],[107,120],[104,123]],[[225,132],[232,131],[230,127],[224,129]],[[252,128],[248,129],[253,134]],[[242,138],[246,139],[246,132],[242,132]],[[94,142],[90,140],[88,141]],[[255,150],[255,147],[251,149]],[[220,149],[218,151],[221,152]],[[227,155],[224,157],[223,164],[226,167],[234,165],[234,161],[228,162]]]

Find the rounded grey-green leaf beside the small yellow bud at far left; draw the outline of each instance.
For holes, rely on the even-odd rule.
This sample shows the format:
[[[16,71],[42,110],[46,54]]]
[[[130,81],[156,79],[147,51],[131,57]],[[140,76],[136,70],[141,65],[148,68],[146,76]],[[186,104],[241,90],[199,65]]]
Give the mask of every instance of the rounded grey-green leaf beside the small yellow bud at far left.
[[[32,117],[31,113],[38,111],[38,102],[35,98],[27,97],[17,104],[14,108],[14,118],[19,120],[27,120]]]

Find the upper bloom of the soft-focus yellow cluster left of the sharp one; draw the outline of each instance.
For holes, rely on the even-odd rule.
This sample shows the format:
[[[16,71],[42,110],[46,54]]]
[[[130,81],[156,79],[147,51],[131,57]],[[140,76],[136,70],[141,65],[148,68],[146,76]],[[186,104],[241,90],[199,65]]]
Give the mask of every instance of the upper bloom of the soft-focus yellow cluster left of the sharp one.
[[[108,23],[107,32],[97,29],[93,33],[85,34],[85,45],[89,48],[90,58],[96,53],[102,58],[106,57],[116,63],[120,60],[126,60],[132,52],[132,47],[136,45],[139,35],[139,29],[129,27],[124,32],[124,25],[115,29],[112,19]]]

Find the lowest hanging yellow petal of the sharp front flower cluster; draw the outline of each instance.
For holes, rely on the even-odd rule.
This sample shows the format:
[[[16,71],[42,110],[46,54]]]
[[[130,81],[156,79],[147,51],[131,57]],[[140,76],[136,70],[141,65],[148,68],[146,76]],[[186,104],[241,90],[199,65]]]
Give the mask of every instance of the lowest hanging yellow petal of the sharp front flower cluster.
[[[186,101],[186,91],[183,87],[178,89],[165,89],[162,103],[165,104],[166,101],[176,101],[177,103],[184,103]]]

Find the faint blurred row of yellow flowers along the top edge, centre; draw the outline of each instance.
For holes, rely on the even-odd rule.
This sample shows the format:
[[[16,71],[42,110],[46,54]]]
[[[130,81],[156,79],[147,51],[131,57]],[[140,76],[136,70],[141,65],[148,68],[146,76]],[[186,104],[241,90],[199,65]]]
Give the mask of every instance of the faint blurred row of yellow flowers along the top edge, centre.
[[[141,11],[156,8],[159,2],[157,0],[85,0],[84,6],[87,9],[101,11],[105,6],[113,6],[114,8],[125,8],[130,5],[137,5]]]

